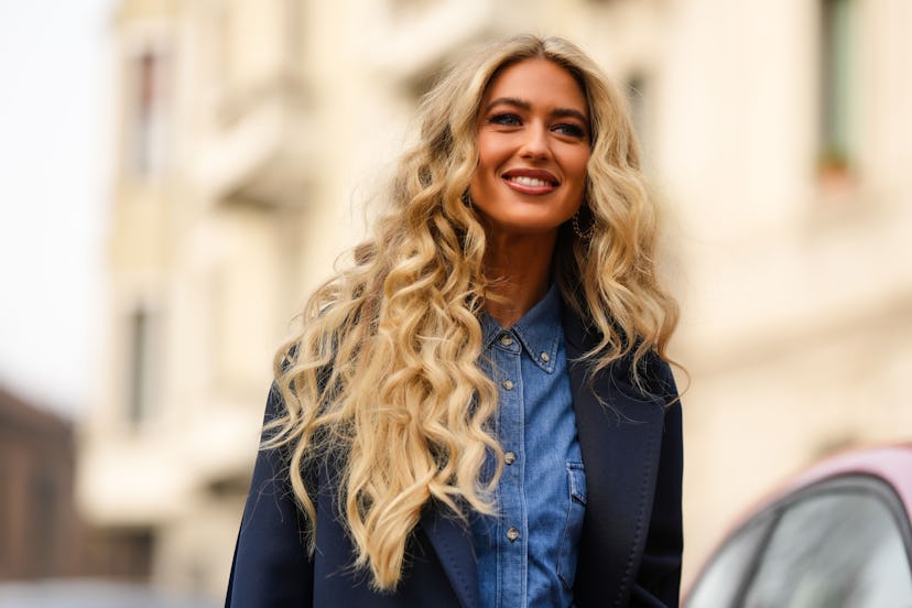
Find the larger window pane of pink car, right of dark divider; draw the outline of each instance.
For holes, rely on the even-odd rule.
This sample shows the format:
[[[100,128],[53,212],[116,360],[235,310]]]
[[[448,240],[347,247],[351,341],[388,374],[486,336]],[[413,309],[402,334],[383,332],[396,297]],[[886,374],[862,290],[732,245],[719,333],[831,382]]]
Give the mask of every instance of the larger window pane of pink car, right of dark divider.
[[[912,574],[899,526],[875,492],[834,488],[789,504],[743,606],[912,606]]]

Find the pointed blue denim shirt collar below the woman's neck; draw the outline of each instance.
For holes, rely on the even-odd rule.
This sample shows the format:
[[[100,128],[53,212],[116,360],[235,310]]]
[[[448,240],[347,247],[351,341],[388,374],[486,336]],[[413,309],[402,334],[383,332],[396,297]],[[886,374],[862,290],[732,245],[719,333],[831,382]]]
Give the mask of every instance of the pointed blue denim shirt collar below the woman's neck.
[[[561,325],[561,292],[552,284],[545,296],[525,313],[508,332],[519,338],[529,358],[551,373],[557,359],[557,347],[564,338]],[[489,314],[481,315],[485,349],[496,347],[495,340],[504,329]]]

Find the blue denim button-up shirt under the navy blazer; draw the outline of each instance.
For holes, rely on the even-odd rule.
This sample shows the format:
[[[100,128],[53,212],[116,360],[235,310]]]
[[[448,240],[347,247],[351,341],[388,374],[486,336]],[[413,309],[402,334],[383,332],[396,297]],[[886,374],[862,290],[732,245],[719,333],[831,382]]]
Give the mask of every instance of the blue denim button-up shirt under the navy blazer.
[[[482,366],[498,387],[492,419],[506,465],[498,514],[471,524],[481,606],[572,606],[586,509],[583,456],[556,286],[510,329],[484,315]],[[486,464],[486,475],[495,468]]]

